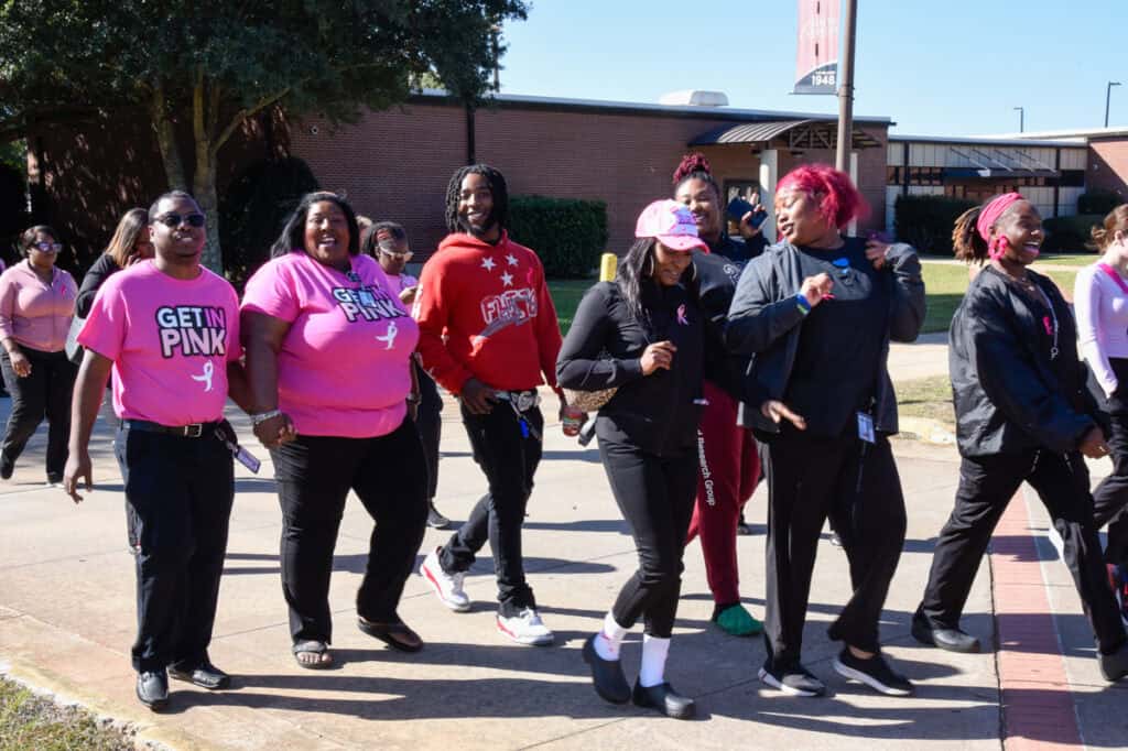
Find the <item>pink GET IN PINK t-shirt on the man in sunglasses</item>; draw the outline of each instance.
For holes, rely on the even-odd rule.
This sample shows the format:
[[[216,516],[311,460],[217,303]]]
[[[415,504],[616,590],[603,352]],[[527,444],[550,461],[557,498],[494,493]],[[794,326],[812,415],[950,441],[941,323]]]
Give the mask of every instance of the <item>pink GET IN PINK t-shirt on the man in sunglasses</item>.
[[[227,363],[243,354],[239,299],[206,268],[184,281],[144,260],[106,280],[78,342],[114,361],[118,417],[214,422],[227,401]]]

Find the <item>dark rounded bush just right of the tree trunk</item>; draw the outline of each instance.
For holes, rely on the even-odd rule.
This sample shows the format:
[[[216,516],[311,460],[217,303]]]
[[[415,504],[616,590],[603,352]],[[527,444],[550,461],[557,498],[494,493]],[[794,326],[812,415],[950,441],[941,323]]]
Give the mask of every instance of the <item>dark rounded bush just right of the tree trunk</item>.
[[[232,284],[243,289],[266,263],[287,217],[317,188],[309,165],[297,158],[255,162],[231,183],[219,202],[219,235],[223,271]]]

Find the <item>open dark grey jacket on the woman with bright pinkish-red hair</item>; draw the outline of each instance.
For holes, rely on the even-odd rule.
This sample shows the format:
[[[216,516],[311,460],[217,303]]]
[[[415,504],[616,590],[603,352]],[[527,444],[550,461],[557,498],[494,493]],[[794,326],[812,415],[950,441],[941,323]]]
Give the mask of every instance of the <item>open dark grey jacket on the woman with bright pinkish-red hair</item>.
[[[858,238],[846,241],[864,242]],[[761,434],[779,432],[778,425],[760,414],[760,405],[768,399],[783,398],[799,348],[804,316],[795,304],[795,295],[803,284],[797,254],[790,242],[778,242],[744,267],[724,329],[724,341],[731,351],[752,355],[744,377],[739,421]],[[885,276],[889,330],[881,347],[881,379],[873,416],[878,431],[893,434],[897,432],[897,396],[885,368],[889,341],[916,339],[924,324],[925,297],[920,262],[910,246],[900,242],[892,246],[885,268],[889,270]]]

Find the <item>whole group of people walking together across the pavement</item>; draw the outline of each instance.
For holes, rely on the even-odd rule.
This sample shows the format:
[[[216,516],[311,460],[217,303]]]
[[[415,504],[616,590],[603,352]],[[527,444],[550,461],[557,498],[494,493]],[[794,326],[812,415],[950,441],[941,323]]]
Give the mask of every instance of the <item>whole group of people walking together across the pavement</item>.
[[[350,491],[373,521],[356,626],[403,652],[423,647],[397,608],[429,514],[437,514],[437,382],[458,398],[487,489],[447,542],[425,551],[418,573],[443,606],[466,611],[464,577],[488,542],[499,631],[543,646],[554,634],[525,574],[521,527],[544,441],[537,388],[547,383],[565,435],[579,433],[585,410],[594,413],[610,491],[638,553],[637,569],[583,644],[599,696],[670,717],[695,715],[694,699],[666,678],[682,556],[694,537],[702,540],[714,622],[734,636],[763,633],[760,680],[795,696],[825,693],[802,662],[802,636],[828,519],[851,582],[828,631],[841,643],[834,669],[883,693],[911,693],[910,680],[881,651],[879,622],[906,532],[889,443],[897,400],[887,359],[890,342],[914,341],[923,325],[920,264],[907,245],[843,235],[863,202],[829,167],[784,177],[774,209],[775,245],[759,231],[758,206],[732,217],[730,235],[708,164],[688,156],[671,197],[640,214],[616,279],[584,295],[563,339],[539,258],[509,237],[505,179],[485,165],[452,176],[450,233],[418,280],[404,273],[404,229],[377,222],[362,232],[334,193],[302,198],[241,301],[201,266],[206,220],[185,193],[123,218],[81,290],[54,268],[58,235],[32,228],[23,238],[27,259],[0,275],[3,376],[16,403],[0,476],[10,477],[46,416],[49,479],[81,501],[91,484],[90,434],[112,382],[115,456],[136,553],[136,695],[159,709],[169,677],[208,689],[230,683],[208,646],[233,462],[257,471],[258,460],[224,418],[228,398],[250,416],[271,454],[297,664],[334,663],[328,591]],[[1121,209],[1094,233],[1102,263],[1078,276],[1081,342],[1108,397],[1104,410],[1085,388],[1070,310],[1052,282],[1026,267],[1042,239],[1033,206],[1007,194],[957,226],[958,257],[985,265],[952,323],[963,461],[913,621],[922,642],[978,648],[960,630],[960,615],[995,523],[1029,480],[1064,540],[1102,673],[1110,681],[1128,674],[1114,593],[1128,555]],[[77,378],[64,351],[74,315],[83,351]],[[1110,451],[1114,474],[1098,489],[1094,515],[1081,457]],[[741,603],[735,545],[743,505],[761,478],[763,622]],[[1102,553],[1098,524],[1108,521]],[[640,620],[642,660],[632,687],[620,653]]]

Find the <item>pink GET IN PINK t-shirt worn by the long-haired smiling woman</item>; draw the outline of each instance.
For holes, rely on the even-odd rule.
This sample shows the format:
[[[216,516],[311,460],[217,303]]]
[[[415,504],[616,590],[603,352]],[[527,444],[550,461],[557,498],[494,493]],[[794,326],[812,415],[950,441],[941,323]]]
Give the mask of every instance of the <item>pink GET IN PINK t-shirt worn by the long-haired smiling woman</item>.
[[[303,435],[387,435],[407,414],[418,327],[376,260],[353,256],[352,274],[296,250],[247,282],[244,310],[290,324],[279,408]]]

